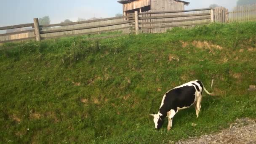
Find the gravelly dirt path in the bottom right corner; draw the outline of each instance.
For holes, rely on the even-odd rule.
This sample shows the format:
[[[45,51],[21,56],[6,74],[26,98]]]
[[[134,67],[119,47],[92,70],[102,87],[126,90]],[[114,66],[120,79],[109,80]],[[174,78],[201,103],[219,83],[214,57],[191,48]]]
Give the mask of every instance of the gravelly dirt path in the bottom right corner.
[[[248,118],[239,119],[219,133],[192,137],[176,144],[256,144],[256,122]]]

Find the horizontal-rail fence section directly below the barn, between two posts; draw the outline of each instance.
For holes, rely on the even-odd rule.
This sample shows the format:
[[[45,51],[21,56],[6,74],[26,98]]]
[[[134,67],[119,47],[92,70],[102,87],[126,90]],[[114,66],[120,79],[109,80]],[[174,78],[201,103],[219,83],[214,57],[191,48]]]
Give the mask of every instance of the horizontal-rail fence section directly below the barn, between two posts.
[[[160,33],[166,32],[167,29],[173,27],[191,28],[211,22],[213,22],[213,9],[204,8],[184,11],[149,11],[138,13],[138,15],[135,14],[135,22],[130,24],[135,27],[131,29],[135,30],[136,33]]]

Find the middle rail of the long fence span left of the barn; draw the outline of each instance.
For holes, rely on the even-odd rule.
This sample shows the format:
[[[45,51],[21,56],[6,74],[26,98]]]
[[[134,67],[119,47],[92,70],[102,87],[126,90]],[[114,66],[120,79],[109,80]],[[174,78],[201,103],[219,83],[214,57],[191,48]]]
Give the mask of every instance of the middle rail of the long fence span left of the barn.
[[[131,22],[135,22],[134,20],[131,21],[122,21],[112,24],[102,24],[102,25],[95,25],[95,26],[88,26],[88,27],[77,27],[77,28],[69,28],[69,29],[56,29],[56,30],[47,30],[47,31],[41,31],[41,34],[47,34],[47,33],[53,33],[53,32],[67,32],[72,30],[80,30],[80,29],[92,29],[92,28],[98,28],[98,27],[108,27],[108,26],[114,26],[119,24],[128,24]]]

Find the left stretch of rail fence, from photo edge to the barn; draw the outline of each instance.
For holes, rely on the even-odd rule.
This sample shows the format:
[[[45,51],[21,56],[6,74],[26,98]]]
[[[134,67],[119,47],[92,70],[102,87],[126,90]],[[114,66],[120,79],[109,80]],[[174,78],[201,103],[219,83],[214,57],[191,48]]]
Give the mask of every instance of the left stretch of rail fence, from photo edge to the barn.
[[[0,43],[30,39],[40,41],[49,38],[97,34],[101,32],[119,30],[121,30],[124,34],[128,34],[129,32],[131,32],[131,25],[129,25],[129,23],[134,22],[134,20],[126,19],[129,19],[131,17],[134,18],[134,14],[130,14],[129,16],[112,17],[106,19],[95,19],[88,21],[48,25],[39,25],[38,19],[35,18],[34,23],[31,24],[0,27],[0,30],[21,29],[30,27],[29,30],[0,34]]]

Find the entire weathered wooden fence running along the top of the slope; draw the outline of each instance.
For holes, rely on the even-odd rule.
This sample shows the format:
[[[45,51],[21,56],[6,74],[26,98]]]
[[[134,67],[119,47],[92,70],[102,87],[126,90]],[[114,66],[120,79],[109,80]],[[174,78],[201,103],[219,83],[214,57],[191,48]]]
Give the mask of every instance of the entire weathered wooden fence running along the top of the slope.
[[[0,34],[0,43],[29,40],[37,41],[76,35],[95,34],[101,32],[121,30],[123,34],[133,33],[160,33],[166,32],[173,27],[190,29],[200,24],[211,22],[232,22],[232,21],[255,21],[256,4],[243,5],[234,8],[229,12],[224,7],[203,8],[183,11],[147,11],[142,13],[131,13],[127,16],[112,17],[106,19],[95,19],[72,23],[39,25],[38,19],[34,23],[20,24],[5,29],[23,29],[11,33]]]

